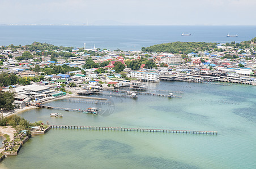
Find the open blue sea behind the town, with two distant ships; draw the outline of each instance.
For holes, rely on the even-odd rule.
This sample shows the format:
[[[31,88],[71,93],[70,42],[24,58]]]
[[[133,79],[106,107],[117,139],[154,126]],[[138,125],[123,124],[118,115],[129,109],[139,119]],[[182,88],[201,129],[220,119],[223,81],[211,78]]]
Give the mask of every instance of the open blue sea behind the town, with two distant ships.
[[[190,33],[190,36],[182,36]],[[227,34],[238,37],[227,37]],[[140,50],[168,42],[241,42],[256,26],[0,26],[0,46],[46,42],[57,46]]]

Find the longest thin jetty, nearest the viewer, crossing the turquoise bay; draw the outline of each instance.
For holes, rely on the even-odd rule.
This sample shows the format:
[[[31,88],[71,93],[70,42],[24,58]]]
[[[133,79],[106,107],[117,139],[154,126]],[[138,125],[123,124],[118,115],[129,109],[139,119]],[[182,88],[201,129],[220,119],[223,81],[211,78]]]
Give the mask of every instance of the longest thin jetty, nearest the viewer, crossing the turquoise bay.
[[[80,129],[80,130],[104,130],[104,131],[138,131],[138,132],[166,132],[177,134],[203,134],[217,135],[217,131],[194,131],[194,130],[168,130],[152,128],[125,128],[125,127],[95,127],[95,126],[72,126],[72,125],[51,125],[52,128]]]

